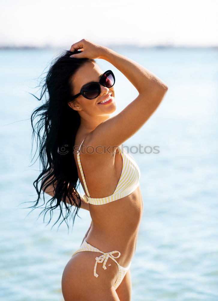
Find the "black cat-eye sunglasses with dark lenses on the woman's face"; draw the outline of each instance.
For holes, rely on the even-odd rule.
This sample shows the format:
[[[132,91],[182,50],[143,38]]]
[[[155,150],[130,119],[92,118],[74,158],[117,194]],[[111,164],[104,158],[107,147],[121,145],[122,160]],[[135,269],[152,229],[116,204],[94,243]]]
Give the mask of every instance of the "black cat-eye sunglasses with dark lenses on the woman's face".
[[[77,98],[79,95],[82,95],[87,99],[97,98],[101,93],[100,84],[107,88],[111,88],[115,84],[115,76],[111,70],[107,70],[99,76],[99,79],[99,82],[89,82],[88,84],[83,85],[80,93],[74,95],[71,99]]]

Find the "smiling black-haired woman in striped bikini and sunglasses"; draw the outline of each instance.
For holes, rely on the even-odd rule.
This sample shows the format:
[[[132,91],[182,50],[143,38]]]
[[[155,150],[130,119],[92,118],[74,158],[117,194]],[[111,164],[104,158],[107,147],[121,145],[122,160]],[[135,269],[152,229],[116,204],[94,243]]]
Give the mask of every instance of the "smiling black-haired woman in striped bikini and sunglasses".
[[[139,92],[113,117],[115,76],[112,70],[101,70],[96,58],[120,70]],[[69,213],[70,204],[77,210],[88,209],[92,219],[82,244],[64,268],[64,300],[128,301],[143,201],[139,167],[120,146],[154,113],[167,85],[133,60],[82,39],[52,65],[44,87],[49,100],[34,114],[43,109],[41,121],[47,127],[41,150],[48,163],[40,177],[43,191],[53,196],[49,209],[64,204]],[[78,178],[83,197],[76,190]],[[52,206],[54,200],[57,204]]]

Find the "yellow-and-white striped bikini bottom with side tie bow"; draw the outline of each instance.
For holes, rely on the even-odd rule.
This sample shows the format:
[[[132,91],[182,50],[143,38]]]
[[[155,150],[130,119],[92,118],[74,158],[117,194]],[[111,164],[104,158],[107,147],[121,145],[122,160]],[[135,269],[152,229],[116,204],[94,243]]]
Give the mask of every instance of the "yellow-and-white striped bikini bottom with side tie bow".
[[[130,268],[130,265],[131,265],[131,262],[130,264],[127,266],[127,268],[124,268],[123,266],[119,265],[119,263],[115,260],[115,258],[118,258],[120,257],[120,252],[118,251],[112,251],[112,252],[102,252],[100,251],[99,249],[93,247],[91,244],[88,244],[86,240],[83,241],[83,243],[81,244],[79,250],[77,250],[76,252],[73,253],[72,257],[76,254],[76,253],[79,253],[79,252],[82,252],[82,251],[91,251],[91,252],[99,252],[99,253],[102,253],[103,255],[99,256],[99,257],[95,257],[95,266],[94,266],[94,276],[97,278],[98,277],[98,274],[96,273],[96,267],[97,267],[97,263],[102,263],[103,262],[103,266],[102,268],[106,270],[106,263],[107,263],[107,260],[108,258],[110,257],[113,261],[116,262],[117,266],[118,266],[118,271],[119,271],[119,274],[118,274],[118,278],[115,282],[115,289],[118,288],[118,286],[121,284],[124,276],[126,275],[128,269]],[[113,254],[115,253],[118,253],[118,256],[114,256]],[[110,265],[110,264],[109,264]]]

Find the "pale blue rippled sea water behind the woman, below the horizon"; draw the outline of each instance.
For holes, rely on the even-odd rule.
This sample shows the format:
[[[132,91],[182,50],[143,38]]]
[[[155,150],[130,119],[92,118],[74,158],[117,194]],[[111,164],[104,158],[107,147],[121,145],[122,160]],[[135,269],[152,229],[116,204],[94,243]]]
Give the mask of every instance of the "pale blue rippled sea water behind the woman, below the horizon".
[[[218,299],[217,245],[217,81],[216,49],[113,48],[142,64],[169,87],[160,107],[126,146],[158,147],[159,153],[132,155],[141,169],[144,213],[132,260],[132,301],[215,301]],[[1,50],[1,279],[7,301],[62,301],[64,266],[82,242],[91,218],[80,209],[72,233],[51,229],[34,201],[30,114],[39,105],[37,78],[56,50]],[[113,65],[121,111],[137,97]],[[39,93],[37,94],[39,96]],[[148,151],[149,152],[149,151]],[[34,154],[34,149],[33,149]],[[36,157],[35,157],[36,158]],[[82,188],[81,188],[81,192]],[[47,217],[47,221],[49,216]]]

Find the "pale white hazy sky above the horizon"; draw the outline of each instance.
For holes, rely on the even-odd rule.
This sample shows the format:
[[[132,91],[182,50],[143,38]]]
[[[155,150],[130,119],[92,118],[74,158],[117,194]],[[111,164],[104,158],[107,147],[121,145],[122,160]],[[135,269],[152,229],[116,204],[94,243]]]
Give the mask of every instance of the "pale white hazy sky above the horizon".
[[[217,0],[0,0],[0,46],[218,46]]]

